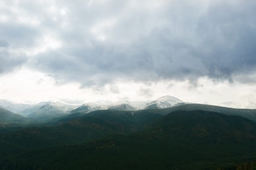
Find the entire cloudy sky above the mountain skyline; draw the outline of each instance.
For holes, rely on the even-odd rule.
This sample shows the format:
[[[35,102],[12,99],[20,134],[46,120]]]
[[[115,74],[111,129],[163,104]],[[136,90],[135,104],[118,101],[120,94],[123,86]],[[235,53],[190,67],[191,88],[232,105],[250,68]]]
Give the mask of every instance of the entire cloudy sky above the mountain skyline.
[[[1,0],[0,99],[256,109],[254,0]]]

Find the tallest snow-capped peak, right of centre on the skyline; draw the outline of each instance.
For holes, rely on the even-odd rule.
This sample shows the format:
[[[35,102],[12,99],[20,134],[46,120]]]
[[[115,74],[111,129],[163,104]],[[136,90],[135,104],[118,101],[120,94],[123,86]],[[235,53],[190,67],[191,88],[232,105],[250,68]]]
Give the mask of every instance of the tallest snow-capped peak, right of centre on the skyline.
[[[145,109],[163,109],[167,107],[173,107],[175,105],[178,105],[179,103],[183,103],[183,101],[176,97],[165,95],[156,99],[155,101],[147,103]]]

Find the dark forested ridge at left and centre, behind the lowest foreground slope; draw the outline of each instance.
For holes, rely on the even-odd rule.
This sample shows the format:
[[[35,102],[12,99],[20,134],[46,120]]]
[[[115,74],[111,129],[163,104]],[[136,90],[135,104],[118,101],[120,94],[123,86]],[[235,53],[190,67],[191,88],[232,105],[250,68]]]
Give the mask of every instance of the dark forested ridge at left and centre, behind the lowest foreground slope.
[[[42,146],[85,143],[107,135],[142,131],[160,117],[160,114],[146,110],[135,114],[121,110],[97,110],[51,124],[22,127],[16,131],[0,128],[3,133],[0,136],[0,158]]]

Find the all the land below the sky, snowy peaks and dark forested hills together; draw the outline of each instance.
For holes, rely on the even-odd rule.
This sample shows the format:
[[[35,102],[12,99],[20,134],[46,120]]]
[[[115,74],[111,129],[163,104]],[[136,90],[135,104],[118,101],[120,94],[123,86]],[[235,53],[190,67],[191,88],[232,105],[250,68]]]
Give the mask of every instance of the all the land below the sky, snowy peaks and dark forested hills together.
[[[256,109],[0,101],[0,169],[255,169]]]

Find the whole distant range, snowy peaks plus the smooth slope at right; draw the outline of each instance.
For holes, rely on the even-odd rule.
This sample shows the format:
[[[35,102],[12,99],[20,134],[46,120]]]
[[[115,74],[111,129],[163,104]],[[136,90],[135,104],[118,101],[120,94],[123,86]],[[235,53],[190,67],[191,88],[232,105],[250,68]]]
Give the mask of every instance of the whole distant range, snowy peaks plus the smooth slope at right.
[[[150,102],[119,101],[108,102],[108,104],[89,102],[80,106],[68,105],[61,102],[41,102],[35,105],[28,105],[1,100],[0,108],[2,110],[6,110],[5,114],[1,114],[3,117],[1,123],[5,123],[5,126],[8,124],[15,125],[13,123],[17,122],[17,120],[20,120],[20,123],[22,121],[23,123],[54,122],[66,117],[74,118],[77,116],[82,116],[95,110],[126,110],[134,112],[146,109],[152,111],[157,110],[157,112],[160,112],[160,114],[167,114],[175,110],[205,110],[229,115],[244,116],[250,120],[256,120],[255,109],[232,109],[213,105],[186,103],[169,95],[165,95]],[[9,121],[3,122],[3,120]]]

